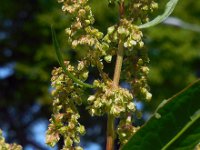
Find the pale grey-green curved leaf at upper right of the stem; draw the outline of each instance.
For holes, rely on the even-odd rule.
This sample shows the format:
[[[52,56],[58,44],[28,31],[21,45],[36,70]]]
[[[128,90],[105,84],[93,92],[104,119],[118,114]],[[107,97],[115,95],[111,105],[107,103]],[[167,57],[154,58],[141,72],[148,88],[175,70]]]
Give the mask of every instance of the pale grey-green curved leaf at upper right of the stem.
[[[165,11],[164,11],[164,13],[162,15],[157,16],[155,19],[153,19],[150,22],[147,22],[145,24],[142,24],[142,25],[138,26],[138,28],[139,29],[149,28],[149,27],[155,26],[155,25],[163,22],[173,12],[173,10],[176,7],[177,3],[178,3],[178,0],[170,0],[166,4]]]

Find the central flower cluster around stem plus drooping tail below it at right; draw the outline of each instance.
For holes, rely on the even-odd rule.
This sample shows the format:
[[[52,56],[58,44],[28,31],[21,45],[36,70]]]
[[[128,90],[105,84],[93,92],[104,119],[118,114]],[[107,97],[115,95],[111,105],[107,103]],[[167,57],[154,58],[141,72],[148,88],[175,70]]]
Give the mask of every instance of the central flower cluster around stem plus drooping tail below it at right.
[[[98,88],[95,94],[88,98],[89,113],[91,116],[109,114],[119,118],[117,134],[122,146],[138,129],[132,125],[131,120],[136,111],[133,95],[127,89],[113,87],[111,80],[106,83],[95,80],[94,85]]]

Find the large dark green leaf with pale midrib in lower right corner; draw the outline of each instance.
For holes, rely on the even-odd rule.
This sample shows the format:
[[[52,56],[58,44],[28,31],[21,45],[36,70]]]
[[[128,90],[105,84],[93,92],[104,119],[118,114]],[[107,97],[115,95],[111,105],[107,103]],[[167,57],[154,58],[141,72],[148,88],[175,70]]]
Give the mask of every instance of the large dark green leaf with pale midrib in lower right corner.
[[[200,80],[159,105],[122,150],[191,150],[200,142]]]

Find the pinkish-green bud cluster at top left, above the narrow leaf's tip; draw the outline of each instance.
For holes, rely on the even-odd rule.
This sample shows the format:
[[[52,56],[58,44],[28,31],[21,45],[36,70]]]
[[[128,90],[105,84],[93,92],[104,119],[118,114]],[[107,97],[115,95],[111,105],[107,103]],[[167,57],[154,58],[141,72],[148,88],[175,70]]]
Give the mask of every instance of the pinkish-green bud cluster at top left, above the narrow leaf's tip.
[[[94,23],[94,17],[90,6],[87,5],[88,0],[62,0],[59,2],[63,3],[63,11],[75,15],[71,27],[65,30],[72,48],[83,45],[99,48],[98,40],[103,37],[103,33],[91,26]]]

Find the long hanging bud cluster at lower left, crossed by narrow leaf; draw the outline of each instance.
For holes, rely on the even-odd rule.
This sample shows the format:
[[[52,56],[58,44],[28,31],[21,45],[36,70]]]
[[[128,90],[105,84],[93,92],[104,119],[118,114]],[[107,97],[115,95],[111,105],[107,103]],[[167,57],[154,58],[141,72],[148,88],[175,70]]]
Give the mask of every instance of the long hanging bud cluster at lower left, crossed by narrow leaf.
[[[80,61],[76,69],[69,62],[65,62],[65,65],[68,71],[76,77],[82,80],[87,79],[87,64],[84,61]],[[80,135],[85,133],[85,128],[78,122],[80,115],[76,105],[82,104],[81,93],[83,90],[63,73],[62,68],[55,68],[52,71],[51,81],[54,99],[53,115],[46,134],[46,143],[53,147],[60,140],[60,136],[63,136],[63,149],[72,149],[76,144],[74,148],[80,150],[81,147],[78,146],[78,143]]]

